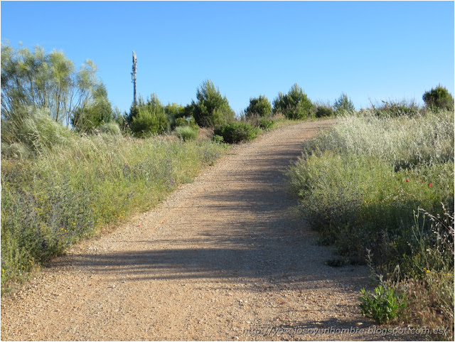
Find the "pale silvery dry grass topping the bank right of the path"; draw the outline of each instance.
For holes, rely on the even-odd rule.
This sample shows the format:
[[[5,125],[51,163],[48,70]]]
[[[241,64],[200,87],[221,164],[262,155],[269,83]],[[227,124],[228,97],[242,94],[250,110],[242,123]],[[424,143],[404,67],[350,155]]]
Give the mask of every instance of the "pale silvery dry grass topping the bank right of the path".
[[[371,156],[395,169],[453,160],[453,112],[426,112],[412,117],[378,117],[373,110],[340,117],[330,132],[306,151]]]

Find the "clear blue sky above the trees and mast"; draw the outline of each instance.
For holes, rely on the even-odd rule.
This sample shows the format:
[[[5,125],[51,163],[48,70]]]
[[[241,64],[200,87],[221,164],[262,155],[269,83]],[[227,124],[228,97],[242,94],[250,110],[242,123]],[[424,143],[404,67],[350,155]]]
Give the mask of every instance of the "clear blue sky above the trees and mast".
[[[113,106],[137,90],[186,105],[210,78],[235,112],[296,82],[313,101],[355,107],[454,94],[453,1],[1,1],[1,40],[93,60]]]

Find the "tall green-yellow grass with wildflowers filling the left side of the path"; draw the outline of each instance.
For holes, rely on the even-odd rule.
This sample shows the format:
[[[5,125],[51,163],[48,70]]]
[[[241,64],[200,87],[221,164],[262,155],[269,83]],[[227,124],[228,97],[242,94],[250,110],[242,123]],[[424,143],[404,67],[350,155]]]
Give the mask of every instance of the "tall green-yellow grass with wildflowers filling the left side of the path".
[[[70,137],[32,158],[1,161],[1,287],[73,242],[147,210],[191,182],[224,147],[175,137]]]

